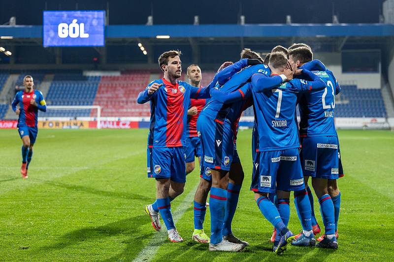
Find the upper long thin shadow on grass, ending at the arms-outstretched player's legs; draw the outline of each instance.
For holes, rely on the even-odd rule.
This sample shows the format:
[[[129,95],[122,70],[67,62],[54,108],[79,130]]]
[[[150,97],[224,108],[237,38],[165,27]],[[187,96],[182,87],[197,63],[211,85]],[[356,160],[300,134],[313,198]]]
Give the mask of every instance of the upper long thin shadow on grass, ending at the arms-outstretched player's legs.
[[[39,179],[36,179],[36,180],[39,180]],[[152,201],[152,198],[148,198],[146,196],[142,196],[142,195],[134,194],[134,193],[130,193],[130,192],[104,191],[104,190],[98,190],[98,189],[86,187],[86,186],[78,186],[78,185],[73,185],[73,184],[65,184],[65,183],[59,183],[59,182],[53,182],[53,181],[47,181],[47,180],[41,180],[41,181],[42,181],[42,183],[47,184],[47,185],[62,187],[62,188],[70,189],[70,190],[82,191],[85,193],[95,194],[95,195],[99,195],[99,196],[116,197],[116,198],[120,198],[120,199],[138,200],[138,201],[143,201],[143,202],[151,202]]]

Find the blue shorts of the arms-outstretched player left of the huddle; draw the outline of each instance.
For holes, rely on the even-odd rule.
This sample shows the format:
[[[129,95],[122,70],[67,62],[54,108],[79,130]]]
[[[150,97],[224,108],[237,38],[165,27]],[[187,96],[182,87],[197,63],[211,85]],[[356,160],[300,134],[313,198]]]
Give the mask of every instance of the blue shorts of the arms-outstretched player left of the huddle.
[[[186,182],[186,163],[182,146],[153,147],[147,149],[148,177],[170,178]]]

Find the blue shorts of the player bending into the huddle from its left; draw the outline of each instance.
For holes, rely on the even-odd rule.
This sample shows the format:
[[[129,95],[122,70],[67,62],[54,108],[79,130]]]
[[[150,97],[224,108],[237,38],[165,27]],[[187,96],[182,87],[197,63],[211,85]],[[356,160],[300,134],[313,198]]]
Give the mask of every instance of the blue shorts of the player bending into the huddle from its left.
[[[202,166],[229,171],[234,155],[230,124],[200,115],[197,119],[197,132],[201,139]]]

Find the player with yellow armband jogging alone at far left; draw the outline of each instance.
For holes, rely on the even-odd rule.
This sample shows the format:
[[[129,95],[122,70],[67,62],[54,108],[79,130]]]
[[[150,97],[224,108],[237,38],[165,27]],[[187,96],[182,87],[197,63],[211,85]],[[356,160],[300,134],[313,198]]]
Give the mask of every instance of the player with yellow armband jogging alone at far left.
[[[25,90],[16,93],[12,101],[12,110],[19,116],[18,132],[22,139],[22,167],[23,178],[28,178],[28,169],[33,156],[33,146],[37,138],[38,110],[45,112],[46,103],[41,91],[35,90],[33,77],[23,78]]]

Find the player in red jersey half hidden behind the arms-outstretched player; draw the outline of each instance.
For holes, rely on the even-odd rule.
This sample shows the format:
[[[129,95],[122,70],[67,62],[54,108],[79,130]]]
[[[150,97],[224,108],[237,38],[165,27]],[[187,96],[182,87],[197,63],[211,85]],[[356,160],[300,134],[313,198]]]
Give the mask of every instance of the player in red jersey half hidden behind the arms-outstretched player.
[[[201,69],[197,64],[191,64],[186,69],[186,77],[189,79],[189,84],[194,87],[201,87]],[[188,109],[188,120],[186,124],[186,175],[195,169],[195,157],[198,158],[198,166],[201,163],[201,141],[197,136],[197,118],[205,106],[207,99],[190,99]]]

